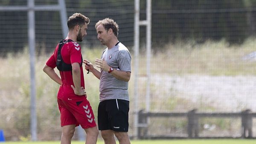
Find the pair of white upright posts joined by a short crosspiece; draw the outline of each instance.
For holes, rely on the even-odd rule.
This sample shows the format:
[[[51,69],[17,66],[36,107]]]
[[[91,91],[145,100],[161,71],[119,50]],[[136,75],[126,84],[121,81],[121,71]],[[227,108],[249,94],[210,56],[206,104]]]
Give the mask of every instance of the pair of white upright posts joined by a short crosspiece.
[[[146,20],[140,20],[140,0],[134,0],[134,137],[138,138],[139,124],[139,95],[138,95],[138,78],[139,78],[139,47],[140,47],[140,26],[146,26],[146,94],[145,103],[146,112],[150,110],[150,59],[151,59],[151,0],[146,0]]]

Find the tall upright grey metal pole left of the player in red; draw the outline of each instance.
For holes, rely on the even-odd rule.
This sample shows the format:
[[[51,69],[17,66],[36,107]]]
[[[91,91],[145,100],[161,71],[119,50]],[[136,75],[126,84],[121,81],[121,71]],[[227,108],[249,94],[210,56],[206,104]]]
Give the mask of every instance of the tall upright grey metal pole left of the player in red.
[[[35,89],[35,3],[28,1],[28,34],[29,34],[29,55],[30,55],[30,118],[31,138],[37,141],[37,118],[36,118],[36,89]]]

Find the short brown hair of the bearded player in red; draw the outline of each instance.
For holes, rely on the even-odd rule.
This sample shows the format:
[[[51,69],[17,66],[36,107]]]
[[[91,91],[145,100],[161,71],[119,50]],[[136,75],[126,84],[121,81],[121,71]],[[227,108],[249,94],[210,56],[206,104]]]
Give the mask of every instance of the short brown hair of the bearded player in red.
[[[89,24],[90,20],[88,17],[85,17],[83,14],[75,13],[70,16],[67,20],[67,27],[68,29],[73,29],[76,25],[82,27],[84,23]]]

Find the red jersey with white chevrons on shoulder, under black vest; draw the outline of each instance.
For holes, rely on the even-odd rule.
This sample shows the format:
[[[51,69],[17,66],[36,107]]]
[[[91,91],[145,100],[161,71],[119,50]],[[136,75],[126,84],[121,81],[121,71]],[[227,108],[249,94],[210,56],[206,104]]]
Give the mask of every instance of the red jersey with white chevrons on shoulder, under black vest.
[[[58,45],[51,57],[47,60],[46,65],[54,69],[56,67],[56,60],[58,55]],[[65,43],[61,48],[61,56],[65,63],[81,63],[81,47],[78,43],[71,41]],[[81,70],[81,86],[84,87],[84,73],[83,68],[80,66]],[[58,91],[58,98],[67,101],[82,101],[85,96],[76,95],[71,85],[74,85],[72,71],[60,71],[62,84]],[[85,89],[85,87],[84,87]]]

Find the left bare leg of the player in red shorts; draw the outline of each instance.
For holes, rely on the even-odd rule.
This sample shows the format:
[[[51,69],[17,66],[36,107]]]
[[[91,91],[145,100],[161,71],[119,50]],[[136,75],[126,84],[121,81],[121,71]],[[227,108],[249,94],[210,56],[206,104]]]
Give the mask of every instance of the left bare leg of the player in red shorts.
[[[62,135],[61,135],[61,144],[71,144],[71,139],[74,135],[76,125],[67,125],[61,127]]]

